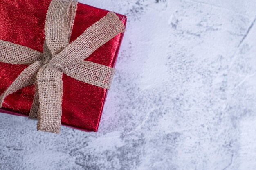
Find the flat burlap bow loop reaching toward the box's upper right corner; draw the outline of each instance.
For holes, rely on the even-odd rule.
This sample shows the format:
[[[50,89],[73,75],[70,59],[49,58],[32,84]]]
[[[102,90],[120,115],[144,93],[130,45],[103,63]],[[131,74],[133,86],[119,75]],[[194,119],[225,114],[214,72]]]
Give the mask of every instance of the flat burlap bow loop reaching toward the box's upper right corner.
[[[109,12],[56,54],[51,63],[58,68],[79,64],[122,31],[124,31],[124,24],[115,13]]]

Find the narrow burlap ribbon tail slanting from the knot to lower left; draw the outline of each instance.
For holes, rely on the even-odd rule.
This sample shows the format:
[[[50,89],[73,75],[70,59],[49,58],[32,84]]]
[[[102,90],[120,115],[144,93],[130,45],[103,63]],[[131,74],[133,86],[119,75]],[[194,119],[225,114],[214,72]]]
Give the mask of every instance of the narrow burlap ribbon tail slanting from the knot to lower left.
[[[20,73],[20,75],[13,81],[13,83],[7,88],[7,90],[0,96],[0,107],[2,107],[4,98],[6,98],[9,94],[12,94],[17,90],[22,89],[23,87],[35,83],[36,74],[38,73],[40,66],[41,62],[36,61]]]

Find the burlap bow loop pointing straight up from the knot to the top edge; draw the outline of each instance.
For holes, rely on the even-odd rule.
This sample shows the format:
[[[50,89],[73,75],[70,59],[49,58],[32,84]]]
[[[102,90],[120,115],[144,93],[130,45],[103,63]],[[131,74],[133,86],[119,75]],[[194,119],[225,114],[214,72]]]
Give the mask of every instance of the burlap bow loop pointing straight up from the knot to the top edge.
[[[70,40],[77,2],[52,0],[45,21],[45,41],[52,56],[63,50]]]

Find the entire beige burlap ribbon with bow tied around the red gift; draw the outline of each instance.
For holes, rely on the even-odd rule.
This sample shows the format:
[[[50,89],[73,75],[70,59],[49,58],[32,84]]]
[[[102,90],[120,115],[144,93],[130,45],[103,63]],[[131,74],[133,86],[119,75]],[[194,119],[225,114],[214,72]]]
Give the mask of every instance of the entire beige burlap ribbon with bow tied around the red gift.
[[[0,62],[29,64],[0,96],[0,107],[7,95],[35,83],[29,118],[38,119],[38,131],[60,131],[63,72],[76,80],[110,88],[114,69],[83,60],[124,31],[124,24],[109,12],[69,44],[76,7],[73,0],[52,0],[46,15],[43,53],[0,40]]]

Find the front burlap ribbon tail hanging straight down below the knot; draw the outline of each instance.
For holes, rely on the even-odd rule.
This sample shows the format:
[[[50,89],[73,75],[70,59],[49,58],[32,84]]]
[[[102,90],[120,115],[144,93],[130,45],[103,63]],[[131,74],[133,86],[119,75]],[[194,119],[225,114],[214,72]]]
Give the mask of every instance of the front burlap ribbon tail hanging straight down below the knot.
[[[61,104],[63,95],[63,73],[61,70],[44,66],[38,72],[38,131],[59,133],[61,129]]]

